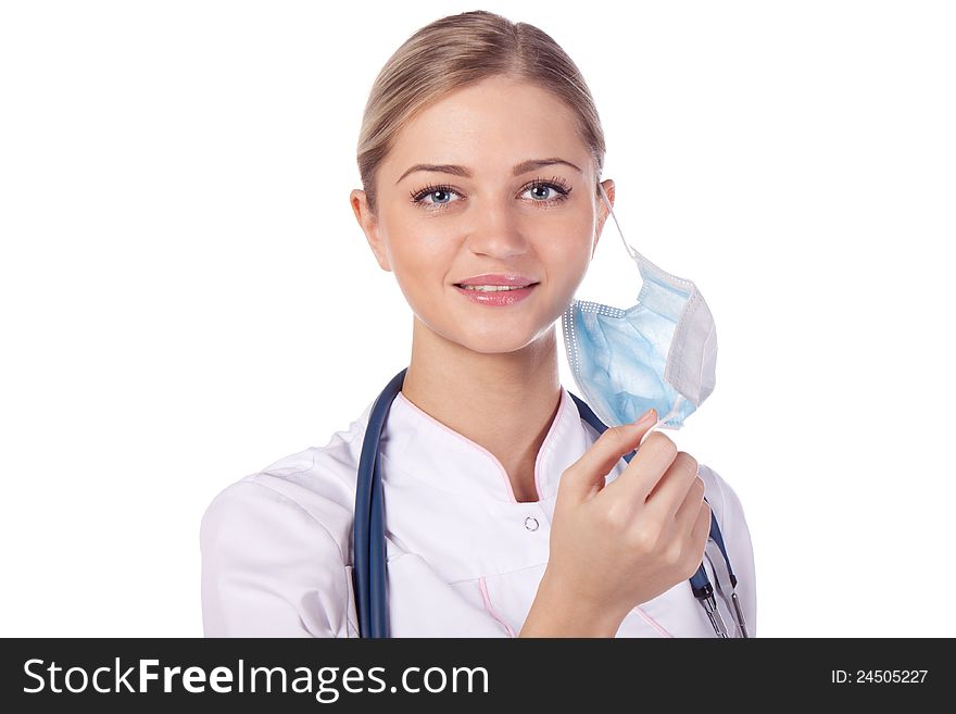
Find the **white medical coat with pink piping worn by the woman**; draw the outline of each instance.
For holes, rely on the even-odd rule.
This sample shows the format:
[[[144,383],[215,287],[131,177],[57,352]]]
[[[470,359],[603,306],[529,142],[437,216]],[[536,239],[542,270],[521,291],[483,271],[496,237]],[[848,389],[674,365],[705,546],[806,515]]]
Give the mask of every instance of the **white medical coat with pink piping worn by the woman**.
[[[372,403],[327,446],[287,456],[213,499],[200,528],[206,637],[357,637],[352,514],[370,411]],[[400,392],[380,448],[391,636],[520,632],[548,563],[558,480],[596,438],[562,388],[534,465],[539,500],[520,503],[498,459]],[[626,466],[621,459],[606,483]],[[720,476],[704,464],[700,473],[753,636],[754,561],[743,510]],[[733,634],[732,613],[717,601]],[[687,580],[634,607],[617,630],[713,636]]]

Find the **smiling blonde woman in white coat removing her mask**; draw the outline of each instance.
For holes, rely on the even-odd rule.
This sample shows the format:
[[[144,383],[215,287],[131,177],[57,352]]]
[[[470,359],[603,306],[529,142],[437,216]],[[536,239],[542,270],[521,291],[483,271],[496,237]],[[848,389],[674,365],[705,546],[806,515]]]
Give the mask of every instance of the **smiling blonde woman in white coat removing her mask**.
[[[373,87],[351,205],[414,313],[379,452],[392,637],[714,636],[688,581],[712,508],[754,634],[732,489],[651,431],[653,410],[599,436],[559,384],[555,321],[614,198],[603,158],[575,64],[499,15],[422,28]],[[206,636],[357,636],[352,527],[372,406],[214,499]]]

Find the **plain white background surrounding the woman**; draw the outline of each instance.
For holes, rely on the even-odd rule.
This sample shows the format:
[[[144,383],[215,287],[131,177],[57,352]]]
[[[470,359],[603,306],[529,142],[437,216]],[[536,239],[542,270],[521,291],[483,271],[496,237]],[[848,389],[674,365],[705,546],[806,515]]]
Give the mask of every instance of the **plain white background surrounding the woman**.
[[[358,126],[478,8],[576,61],[625,236],[714,312],[668,434],[744,504],[758,634],[956,635],[952,3],[557,0],[0,4],[0,634],[201,635],[215,493],[406,366]],[[603,271],[631,304],[612,222]]]

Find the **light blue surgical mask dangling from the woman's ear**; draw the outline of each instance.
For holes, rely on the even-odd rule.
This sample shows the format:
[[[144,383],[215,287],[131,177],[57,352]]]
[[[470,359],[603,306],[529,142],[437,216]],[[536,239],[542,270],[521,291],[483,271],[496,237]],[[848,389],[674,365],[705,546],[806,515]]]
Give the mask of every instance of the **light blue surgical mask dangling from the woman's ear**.
[[[568,364],[588,405],[608,426],[629,424],[654,408],[655,427],[677,429],[714,391],[714,317],[693,283],[628,245],[599,188],[643,285],[627,310],[577,299],[568,305],[561,320]]]

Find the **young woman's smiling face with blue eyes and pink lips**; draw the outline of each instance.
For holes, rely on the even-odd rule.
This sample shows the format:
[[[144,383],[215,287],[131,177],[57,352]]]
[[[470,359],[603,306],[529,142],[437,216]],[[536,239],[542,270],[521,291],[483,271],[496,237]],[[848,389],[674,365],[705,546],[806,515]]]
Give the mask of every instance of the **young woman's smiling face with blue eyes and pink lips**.
[[[613,183],[604,188],[613,201]],[[412,120],[376,189],[376,216],[363,191],[352,192],[352,206],[381,267],[429,329],[486,353],[548,333],[583,279],[606,217],[571,111],[504,77],[456,89]],[[487,274],[534,285],[457,287]]]

